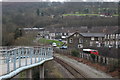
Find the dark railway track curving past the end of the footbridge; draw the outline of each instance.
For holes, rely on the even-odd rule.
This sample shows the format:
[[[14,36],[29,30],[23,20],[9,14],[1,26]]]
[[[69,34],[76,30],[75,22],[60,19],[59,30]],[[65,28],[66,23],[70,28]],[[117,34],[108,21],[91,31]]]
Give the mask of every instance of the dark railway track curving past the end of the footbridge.
[[[87,80],[87,78],[82,75],[79,70],[75,69],[74,66],[69,65],[68,63],[64,62],[63,60],[54,56],[54,60],[61,64],[65,69],[67,69],[76,79],[82,78],[82,80]]]

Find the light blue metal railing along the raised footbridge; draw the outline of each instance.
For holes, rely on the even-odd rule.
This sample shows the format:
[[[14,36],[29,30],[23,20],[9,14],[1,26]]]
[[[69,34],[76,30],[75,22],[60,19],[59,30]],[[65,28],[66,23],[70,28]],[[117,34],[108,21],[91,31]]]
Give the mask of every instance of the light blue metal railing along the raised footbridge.
[[[0,50],[0,76],[20,67],[39,63],[52,56],[51,47],[17,47]]]

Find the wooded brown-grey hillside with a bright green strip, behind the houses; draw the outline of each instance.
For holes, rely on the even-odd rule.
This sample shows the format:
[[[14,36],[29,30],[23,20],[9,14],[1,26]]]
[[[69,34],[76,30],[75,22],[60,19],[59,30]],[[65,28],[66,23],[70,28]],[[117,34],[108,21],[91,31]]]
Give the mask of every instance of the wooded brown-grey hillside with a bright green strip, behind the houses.
[[[22,27],[118,26],[117,2],[3,2],[2,13],[3,45],[12,45]]]

